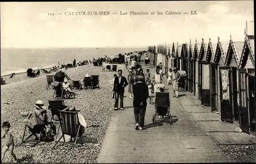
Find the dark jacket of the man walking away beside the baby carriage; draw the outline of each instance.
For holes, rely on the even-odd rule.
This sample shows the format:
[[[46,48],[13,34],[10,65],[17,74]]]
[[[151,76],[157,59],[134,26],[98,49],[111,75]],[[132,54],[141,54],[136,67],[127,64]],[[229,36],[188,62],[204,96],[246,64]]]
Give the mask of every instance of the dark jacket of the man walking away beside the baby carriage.
[[[146,99],[148,98],[148,87],[144,83],[136,83],[133,85],[133,106],[139,107],[140,103],[143,103],[143,106],[146,107]]]

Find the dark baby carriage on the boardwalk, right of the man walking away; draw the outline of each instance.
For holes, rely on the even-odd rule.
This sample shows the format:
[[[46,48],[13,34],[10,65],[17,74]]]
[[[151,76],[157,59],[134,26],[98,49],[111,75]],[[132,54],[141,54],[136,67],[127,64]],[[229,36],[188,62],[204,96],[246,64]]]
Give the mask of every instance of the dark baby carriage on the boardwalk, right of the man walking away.
[[[163,116],[163,118],[160,118]],[[170,99],[169,92],[156,92],[155,98],[155,113],[153,115],[153,124],[156,120],[164,119],[164,116],[168,116],[170,124],[172,124],[172,118],[170,116]]]

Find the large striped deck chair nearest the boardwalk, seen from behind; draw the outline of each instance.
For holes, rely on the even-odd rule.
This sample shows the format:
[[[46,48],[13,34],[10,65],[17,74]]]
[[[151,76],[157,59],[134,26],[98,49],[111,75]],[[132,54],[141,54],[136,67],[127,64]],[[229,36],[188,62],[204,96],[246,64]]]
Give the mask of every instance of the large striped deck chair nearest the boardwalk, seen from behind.
[[[76,145],[78,137],[80,137],[81,138],[81,142],[83,142],[82,141],[82,134],[84,133],[84,128],[79,123],[78,111],[80,111],[80,110],[75,110],[75,111],[59,111],[60,112],[60,118],[61,118],[60,122],[61,122],[61,126],[62,126],[62,135],[57,140],[58,133],[59,133],[59,128],[60,128],[60,126],[59,126],[58,130],[57,130],[57,135],[56,135],[56,138],[55,138],[55,145],[54,145],[54,147],[58,143],[68,143],[68,142],[65,142],[65,134],[75,138],[74,145]],[[63,138],[64,142],[60,141],[61,138]]]

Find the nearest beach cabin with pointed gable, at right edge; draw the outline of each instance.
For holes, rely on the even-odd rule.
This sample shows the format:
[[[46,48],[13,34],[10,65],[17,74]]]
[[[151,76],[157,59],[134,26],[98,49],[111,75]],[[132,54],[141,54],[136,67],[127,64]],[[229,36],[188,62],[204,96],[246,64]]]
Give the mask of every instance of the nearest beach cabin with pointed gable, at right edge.
[[[245,42],[239,61],[240,127],[255,135],[255,65],[254,34],[245,33]]]

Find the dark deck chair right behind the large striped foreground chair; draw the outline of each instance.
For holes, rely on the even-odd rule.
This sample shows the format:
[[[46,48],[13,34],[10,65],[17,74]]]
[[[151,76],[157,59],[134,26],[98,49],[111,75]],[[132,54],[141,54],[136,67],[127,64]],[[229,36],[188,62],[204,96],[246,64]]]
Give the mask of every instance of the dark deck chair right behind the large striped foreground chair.
[[[49,116],[48,116],[48,118],[51,118],[50,117],[50,113],[51,113],[52,118],[54,118],[54,115],[57,115],[58,120],[60,120],[59,111],[65,109],[67,107],[67,106],[65,106],[64,100],[63,99],[52,99],[52,100],[49,100],[48,102],[49,102],[49,106],[48,106]]]

